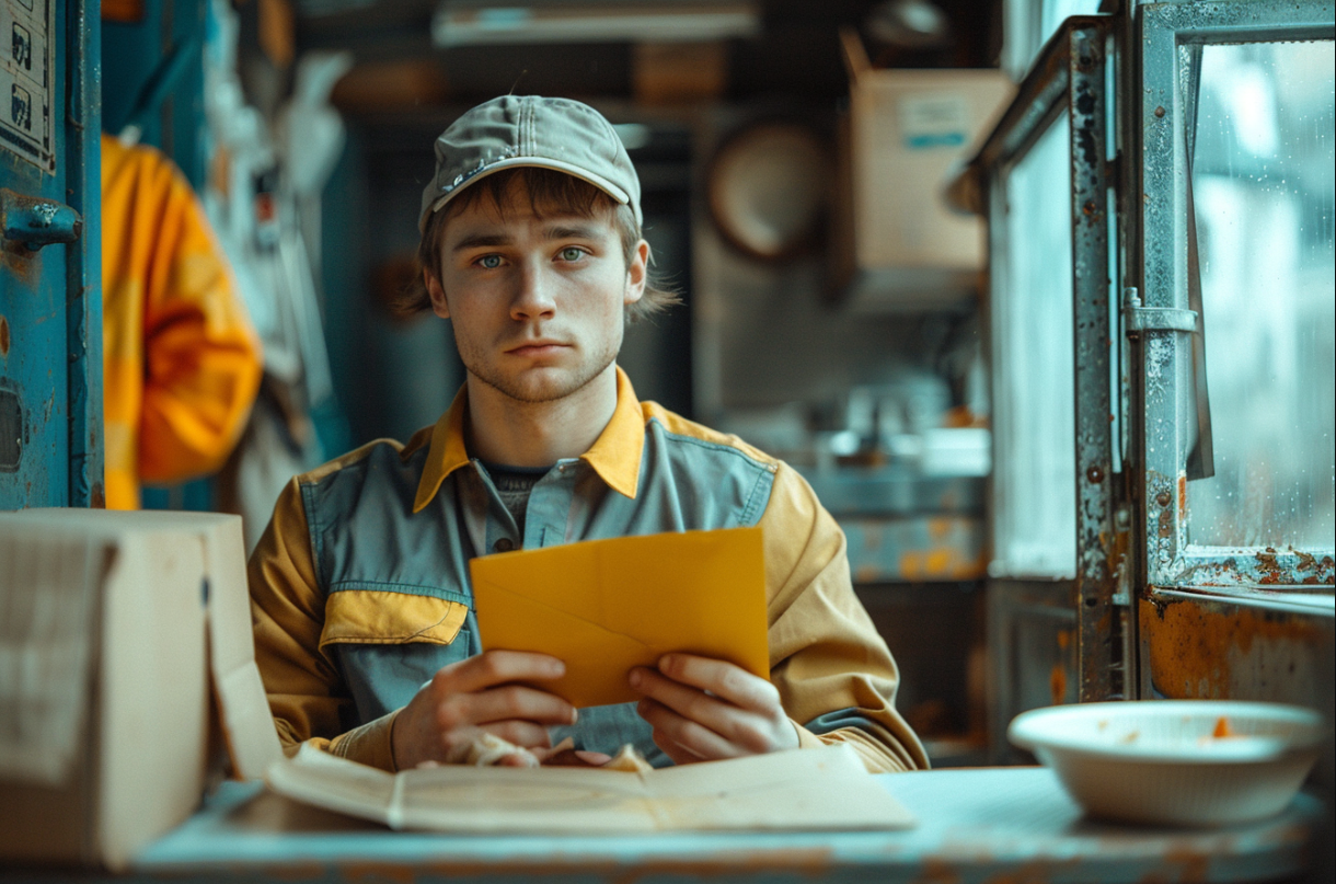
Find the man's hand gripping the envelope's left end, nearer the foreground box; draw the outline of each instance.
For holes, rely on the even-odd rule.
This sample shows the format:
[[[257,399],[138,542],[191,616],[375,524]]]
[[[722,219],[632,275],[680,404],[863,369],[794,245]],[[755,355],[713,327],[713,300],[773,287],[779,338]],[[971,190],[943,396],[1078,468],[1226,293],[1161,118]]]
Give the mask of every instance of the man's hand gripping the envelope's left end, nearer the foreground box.
[[[394,720],[395,768],[444,762],[480,732],[525,749],[549,748],[548,725],[573,725],[576,709],[517,682],[553,681],[565,671],[556,657],[528,651],[482,651],[442,667]]]

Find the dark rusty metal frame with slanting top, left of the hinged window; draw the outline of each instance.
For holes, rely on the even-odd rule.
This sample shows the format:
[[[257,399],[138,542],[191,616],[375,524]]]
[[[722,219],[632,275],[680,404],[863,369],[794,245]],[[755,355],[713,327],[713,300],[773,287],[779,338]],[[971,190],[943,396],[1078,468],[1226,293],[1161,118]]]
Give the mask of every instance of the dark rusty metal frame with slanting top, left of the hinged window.
[[[1130,526],[1117,518],[1124,483],[1121,396],[1112,366],[1120,340],[1110,293],[1113,162],[1108,124],[1108,49],[1117,16],[1073,16],[1049,40],[1018,95],[978,155],[950,187],[961,209],[985,214],[997,231],[1006,213],[1006,178],[1065,112],[1070,122],[1073,370],[1075,376],[1077,572],[1071,607],[1077,621],[1079,699],[1122,697],[1134,678],[1128,666],[1132,618],[1126,563]],[[1038,382],[1041,378],[1035,378]],[[1006,698],[999,698],[1006,706]],[[1002,710],[1003,714],[1007,710]]]

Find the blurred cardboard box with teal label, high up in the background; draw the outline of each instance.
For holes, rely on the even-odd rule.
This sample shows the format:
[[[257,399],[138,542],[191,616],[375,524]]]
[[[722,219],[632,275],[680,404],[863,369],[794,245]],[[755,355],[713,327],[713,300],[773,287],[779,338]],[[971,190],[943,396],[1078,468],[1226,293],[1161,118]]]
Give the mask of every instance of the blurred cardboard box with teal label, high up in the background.
[[[949,209],[943,191],[1015,87],[995,70],[874,70],[858,35],[840,36],[850,72],[842,190],[852,270],[982,270],[983,219]]]

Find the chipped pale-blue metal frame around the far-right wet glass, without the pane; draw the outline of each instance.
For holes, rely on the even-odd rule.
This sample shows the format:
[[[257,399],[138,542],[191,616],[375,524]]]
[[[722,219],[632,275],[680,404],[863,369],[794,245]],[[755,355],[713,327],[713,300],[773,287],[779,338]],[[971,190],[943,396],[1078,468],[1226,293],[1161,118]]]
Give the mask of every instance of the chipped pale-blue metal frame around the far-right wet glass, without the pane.
[[[1194,45],[1336,37],[1333,4],[1313,0],[1253,3],[1162,3],[1136,9],[1133,62],[1140,107],[1128,107],[1133,163],[1129,189],[1129,289],[1142,314],[1169,316],[1189,309],[1188,298],[1188,156],[1184,139],[1185,60]],[[1133,209],[1133,203],[1136,209]],[[1196,317],[1194,317],[1196,318]],[[1140,427],[1134,444],[1144,464],[1134,496],[1145,532],[1145,571],[1140,582],[1154,587],[1331,584],[1332,547],[1272,550],[1190,546],[1186,524],[1186,461],[1194,440],[1192,333],[1182,324],[1126,328],[1133,338]]]

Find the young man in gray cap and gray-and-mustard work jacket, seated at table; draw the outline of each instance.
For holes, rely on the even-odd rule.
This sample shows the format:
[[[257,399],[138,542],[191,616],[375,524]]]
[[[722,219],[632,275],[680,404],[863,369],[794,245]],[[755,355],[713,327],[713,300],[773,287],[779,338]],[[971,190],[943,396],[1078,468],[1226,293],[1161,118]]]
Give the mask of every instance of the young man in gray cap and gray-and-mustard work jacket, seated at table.
[[[896,669],[850,584],[844,538],[786,464],[636,401],[623,328],[671,301],[648,282],[640,185],[577,102],[505,96],[436,143],[420,305],[468,370],[434,427],[298,476],[251,559],[257,659],[286,746],[385,769],[448,761],[480,733],[561,737],[655,765],[847,742],[872,770],[925,766]],[[484,650],[469,559],[661,531],[763,528],[771,678],[668,654],[639,703],[573,709],[541,654]]]

